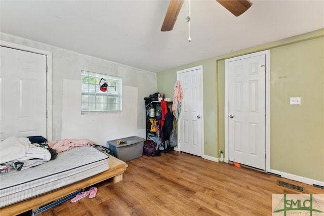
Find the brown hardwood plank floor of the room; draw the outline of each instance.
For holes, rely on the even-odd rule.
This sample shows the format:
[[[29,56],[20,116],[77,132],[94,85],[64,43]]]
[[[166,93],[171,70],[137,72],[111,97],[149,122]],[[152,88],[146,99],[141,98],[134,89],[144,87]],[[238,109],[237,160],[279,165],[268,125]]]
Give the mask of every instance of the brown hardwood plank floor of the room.
[[[272,194],[302,194],[276,185],[278,179],[305,187],[306,194],[324,194],[311,185],[176,151],[127,163],[124,180],[97,184],[95,198],[66,201],[38,215],[271,215]]]

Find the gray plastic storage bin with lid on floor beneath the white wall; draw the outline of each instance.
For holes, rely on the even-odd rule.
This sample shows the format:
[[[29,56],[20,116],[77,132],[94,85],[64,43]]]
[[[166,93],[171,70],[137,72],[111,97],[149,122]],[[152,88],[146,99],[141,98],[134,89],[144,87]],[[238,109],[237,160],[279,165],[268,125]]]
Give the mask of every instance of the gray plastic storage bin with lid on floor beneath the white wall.
[[[118,145],[118,140],[122,142],[127,141],[127,143]],[[118,159],[126,162],[143,155],[144,140],[143,138],[132,136],[108,141],[107,146]]]

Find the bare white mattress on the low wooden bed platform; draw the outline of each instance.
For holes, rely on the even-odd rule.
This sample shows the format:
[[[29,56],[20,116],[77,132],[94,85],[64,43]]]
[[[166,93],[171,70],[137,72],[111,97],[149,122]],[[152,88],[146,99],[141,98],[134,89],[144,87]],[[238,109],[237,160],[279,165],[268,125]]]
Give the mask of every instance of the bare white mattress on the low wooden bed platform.
[[[41,195],[109,169],[109,156],[92,146],[74,147],[56,159],[0,174],[0,208]]]

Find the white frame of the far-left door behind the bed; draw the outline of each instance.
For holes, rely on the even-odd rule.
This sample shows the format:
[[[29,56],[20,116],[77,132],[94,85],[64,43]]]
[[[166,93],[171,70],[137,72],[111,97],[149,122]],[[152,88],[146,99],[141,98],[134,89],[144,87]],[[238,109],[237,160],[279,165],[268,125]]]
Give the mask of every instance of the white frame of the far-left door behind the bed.
[[[47,61],[47,89],[46,89],[46,95],[47,95],[47,140],[52,140],[52,52],[45,51],[45,50],[39,50],[36,48],[32,47],[27,47],[19,44],[14,44],[12,42],[7,42],[0,40],[0,46],[2,47],[8,47],[12,49],[17,49],[17,50],[22,50],[22,51],[27,51],[31,53],[36,53],[36,54],[42,54],[46,56],[46,61]]]

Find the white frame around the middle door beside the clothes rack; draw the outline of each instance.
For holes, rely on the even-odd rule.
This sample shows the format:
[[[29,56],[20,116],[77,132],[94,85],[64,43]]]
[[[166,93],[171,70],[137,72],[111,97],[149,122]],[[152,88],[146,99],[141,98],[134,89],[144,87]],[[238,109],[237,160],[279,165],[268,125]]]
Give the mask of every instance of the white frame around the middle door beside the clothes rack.
[[[179,80],[179,74],[180,73],[185,73],[185,72],[189,72],[189,71],[193,71],[193,70],[200,70],[200,98],[201,98],[201,104],[200,104],[200,110],[201,110],[201,157],[203,157],[205,155],[204,153],[204,81],[203,81],[203,65],[199,65],[196,67],[191,67],[191,68],[187,68],[187,69],[183,69],[183,70],[178,70],[177,71],[177,80]],[[184,96],[185,97],[185,96]],[[179,136],[179,132],[181,131],[181,125],[179,124],[179,122],[177,122],[177,142],[178,142],[178,147],[175,147],[175,150],[177,151],[181,151],[181,143],[180,143],[180,136]]]

